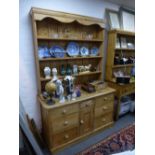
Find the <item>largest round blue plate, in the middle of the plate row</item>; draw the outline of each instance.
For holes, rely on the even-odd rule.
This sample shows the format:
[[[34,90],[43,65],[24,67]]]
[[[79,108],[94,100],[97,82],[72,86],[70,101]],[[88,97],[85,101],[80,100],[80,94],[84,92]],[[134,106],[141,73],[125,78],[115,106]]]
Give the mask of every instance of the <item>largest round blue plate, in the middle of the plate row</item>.
[[[71,57],[79,55],[79,45],[75,42],[70,42],[67,46],[67,54]]]

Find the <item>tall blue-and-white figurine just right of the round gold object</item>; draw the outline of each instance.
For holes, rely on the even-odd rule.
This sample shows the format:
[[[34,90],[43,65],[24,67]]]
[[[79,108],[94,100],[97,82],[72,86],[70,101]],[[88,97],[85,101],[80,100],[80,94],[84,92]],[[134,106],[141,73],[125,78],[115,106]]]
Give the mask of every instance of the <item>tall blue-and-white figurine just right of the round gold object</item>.
[[[60,103],[64,103],[65,102],[65,98],[63,96],[63,94],[64,94],[64,88],[62,86],[61,80],[56,80],[56,94],[59,97],[59,102]]]

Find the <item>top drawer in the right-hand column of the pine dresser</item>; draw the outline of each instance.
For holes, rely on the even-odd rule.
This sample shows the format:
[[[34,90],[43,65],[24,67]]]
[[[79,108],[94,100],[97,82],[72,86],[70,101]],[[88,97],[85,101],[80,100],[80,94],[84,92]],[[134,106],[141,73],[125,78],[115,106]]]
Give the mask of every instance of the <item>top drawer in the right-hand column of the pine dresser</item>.
[[[104,104],[112,103],[114,102],[114,94],[108,94],[105,96],[101,96],[96,98],[95,108],[102,107]]]

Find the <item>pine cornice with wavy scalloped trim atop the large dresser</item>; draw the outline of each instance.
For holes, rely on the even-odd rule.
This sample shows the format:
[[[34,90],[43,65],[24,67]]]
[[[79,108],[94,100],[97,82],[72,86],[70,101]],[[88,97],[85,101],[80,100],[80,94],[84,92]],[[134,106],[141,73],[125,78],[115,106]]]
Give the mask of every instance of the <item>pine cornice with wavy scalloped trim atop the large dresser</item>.
[[[92,18],[88,16],[81,16],[76,14],[57,12],[40,8],[31,8],[30,13],[33,19],[38,21],[41,21],[45,18],[53,18],[62,23],[72,23],[76,21],[83,25],[96,24],[99,25],[101,28],[105,27],[105,22],[103,21],[103,19],[100,18]]]

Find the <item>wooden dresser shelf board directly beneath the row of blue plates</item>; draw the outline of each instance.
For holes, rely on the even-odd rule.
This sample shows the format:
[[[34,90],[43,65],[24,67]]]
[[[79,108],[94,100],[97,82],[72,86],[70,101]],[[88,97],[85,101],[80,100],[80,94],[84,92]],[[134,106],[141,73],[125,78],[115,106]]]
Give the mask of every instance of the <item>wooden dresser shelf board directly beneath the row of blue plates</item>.
[[[78,60],[78,59],[101,59],[101,58],[102,58],[102,56],[43,58],[43,59],[39,59],[39,61],[59,61],[59,60]]]

